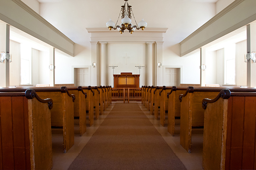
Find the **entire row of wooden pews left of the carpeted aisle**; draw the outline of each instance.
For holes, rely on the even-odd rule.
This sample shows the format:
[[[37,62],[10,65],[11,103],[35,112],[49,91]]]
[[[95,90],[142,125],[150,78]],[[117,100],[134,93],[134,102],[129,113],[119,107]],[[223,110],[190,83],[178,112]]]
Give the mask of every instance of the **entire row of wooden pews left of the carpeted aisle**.
[[[111,105],[111,87],[0,88],[0,169],[52,169],[52,128],[63,129],[63,151]]]

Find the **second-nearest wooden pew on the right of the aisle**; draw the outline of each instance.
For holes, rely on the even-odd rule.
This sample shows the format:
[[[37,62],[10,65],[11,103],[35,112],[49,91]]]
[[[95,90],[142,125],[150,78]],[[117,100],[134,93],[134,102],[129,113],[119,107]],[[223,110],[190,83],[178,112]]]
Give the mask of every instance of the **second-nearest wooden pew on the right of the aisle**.
[[[185,94],[181,94],[180,103],[180,144],[191,152],[192,127],[204,127],[204,109],[201,108],[201,101],[204,98],[214,98],[224,87],[188,87]],[[234,88],[230,91],[243,92],[254,91],[255,88]]]

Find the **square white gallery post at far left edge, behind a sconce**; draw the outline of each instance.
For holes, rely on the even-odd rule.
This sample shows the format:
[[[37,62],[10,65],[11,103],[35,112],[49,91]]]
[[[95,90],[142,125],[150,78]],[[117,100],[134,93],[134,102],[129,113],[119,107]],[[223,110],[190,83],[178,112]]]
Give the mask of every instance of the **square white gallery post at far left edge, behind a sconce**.
[[[0,51],[9,52],[10,45],[10,26],[7,24],[0,24]],[[9,60],[4,60],[0,63],[0,87],[10,86],[10,69]]]

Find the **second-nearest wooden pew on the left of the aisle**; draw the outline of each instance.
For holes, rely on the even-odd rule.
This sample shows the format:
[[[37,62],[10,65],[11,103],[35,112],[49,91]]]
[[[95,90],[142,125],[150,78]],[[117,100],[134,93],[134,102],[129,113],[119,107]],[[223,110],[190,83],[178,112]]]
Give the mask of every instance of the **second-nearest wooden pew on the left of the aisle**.
[[[63,130],[63,150],[64,153],[74,145],[74,101],[76,96],[70,94],[67,87],[16,87],[1,88],[0,91],[24,92],[28,88],[36,91],[42,99],[51,98],[54,108],[51,109],[52,128],[62,128]]]

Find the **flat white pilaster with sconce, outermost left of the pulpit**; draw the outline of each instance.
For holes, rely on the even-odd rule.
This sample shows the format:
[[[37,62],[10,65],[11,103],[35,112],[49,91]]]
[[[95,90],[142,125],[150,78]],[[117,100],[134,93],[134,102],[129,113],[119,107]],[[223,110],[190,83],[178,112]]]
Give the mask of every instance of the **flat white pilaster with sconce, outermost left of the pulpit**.
[[[97,41],[91,41],[91,64],[93,62],[96,62],[96,66],[92,67],[91,69],[91,86],[99,86],[98,79],[97,79],[97,73],[98,73],[98,57],[97,57]]]

